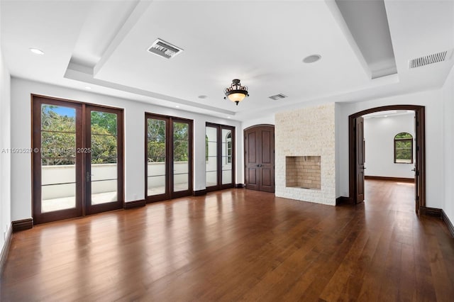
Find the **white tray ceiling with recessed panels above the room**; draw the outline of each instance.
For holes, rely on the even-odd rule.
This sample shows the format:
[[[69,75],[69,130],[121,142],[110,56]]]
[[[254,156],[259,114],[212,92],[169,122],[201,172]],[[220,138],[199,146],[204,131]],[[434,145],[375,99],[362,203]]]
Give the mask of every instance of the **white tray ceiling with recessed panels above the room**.
[[[367,101],[441,87],[452,56],[408,66],[416,57],[454,48],[454,1],[385,0],[386,14],[376,18],[387,17],[383,30],[389,34],[362,26],[371,19],[362,11],[373,11],[367,2],[377,1],[362,1],[358,11],[343,16],[333,0],[1,0],[1,47],[13,77],[90,86],[101,94],[239,121],[304,102]],[[380,60],[394,52],[397,74],[372,79],[377,62],[367,52],[389,44],[389,36],[392,51]],[[184,51],[171,60],[150,54],[156,38]],[[302,62],[314,54],[321,55],[319,62]],[[223,99],[235,78],[250,93],[238,106]],[[279,93],[288,98],[268,99]]]

